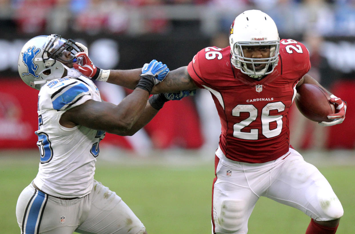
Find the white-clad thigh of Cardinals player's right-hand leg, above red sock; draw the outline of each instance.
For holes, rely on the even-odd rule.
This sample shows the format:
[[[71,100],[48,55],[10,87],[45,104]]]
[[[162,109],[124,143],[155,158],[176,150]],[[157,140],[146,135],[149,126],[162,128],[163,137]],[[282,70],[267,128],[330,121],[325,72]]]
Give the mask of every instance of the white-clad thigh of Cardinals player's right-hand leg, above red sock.
[[[343,207],[331,185],[312,164],[295,150],[275,162],[272,184],[263,196],[295,207],[318,221],[329,221],[343,215]]]

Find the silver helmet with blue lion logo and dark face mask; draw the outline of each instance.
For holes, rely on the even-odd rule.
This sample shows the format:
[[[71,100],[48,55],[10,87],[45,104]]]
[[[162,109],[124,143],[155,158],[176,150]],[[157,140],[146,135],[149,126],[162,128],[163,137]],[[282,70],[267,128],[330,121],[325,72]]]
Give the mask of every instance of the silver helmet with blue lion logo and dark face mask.
[[[69,60],[61,58],[64,50],[70,51],[73,55],[83,51],[73,40],[63,39],[58,34],[30,39],[24,44],[18,56],[18,73],[23,82],[39,90],[50,80],[80,77],[79,71],[62,63],[75,59],[75,56]]]

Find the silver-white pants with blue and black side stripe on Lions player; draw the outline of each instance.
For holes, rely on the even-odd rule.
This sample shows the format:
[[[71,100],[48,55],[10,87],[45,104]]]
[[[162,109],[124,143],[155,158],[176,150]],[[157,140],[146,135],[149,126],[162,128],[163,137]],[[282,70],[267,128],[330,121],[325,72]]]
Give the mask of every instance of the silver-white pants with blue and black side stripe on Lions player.
[[[62,200],[34,189],[32,183],[17,200],[16,217],[24,234],[142,234],[142,222],[116,195],[94,180],[92,192]]]

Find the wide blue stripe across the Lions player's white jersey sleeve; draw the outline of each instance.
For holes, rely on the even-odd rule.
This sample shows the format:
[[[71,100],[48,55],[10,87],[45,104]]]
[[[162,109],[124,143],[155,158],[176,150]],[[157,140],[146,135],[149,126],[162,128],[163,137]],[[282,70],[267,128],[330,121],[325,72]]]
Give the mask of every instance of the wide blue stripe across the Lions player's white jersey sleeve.
[[[55,110],[60,110],[65,105],[71,104],[74,99],[81,98],[83,95],[90,94],[88,91],[88,87],[82,83],[79,83],[69,88],[64,93],[61,93],[60,96],[56,97],[54,100],[52,99],[53,108]]]

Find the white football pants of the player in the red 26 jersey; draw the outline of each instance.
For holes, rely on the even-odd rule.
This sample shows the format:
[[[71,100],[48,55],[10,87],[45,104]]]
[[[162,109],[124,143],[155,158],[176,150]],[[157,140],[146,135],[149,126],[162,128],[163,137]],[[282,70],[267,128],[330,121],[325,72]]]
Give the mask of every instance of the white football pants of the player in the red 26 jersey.
[[[317,221],[343,216],[343,207],[319,170],[290,148],[266,163],[240,163],[218,148],[213,186],[212,232],[246,234],[248,219],[260,196],[295,207]]]

